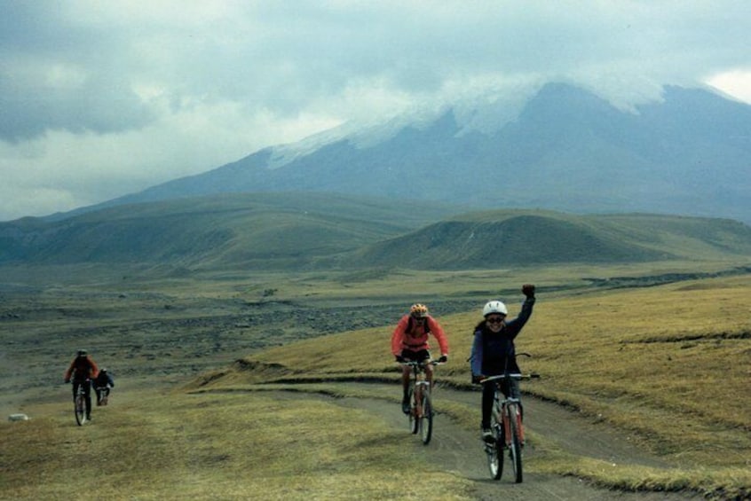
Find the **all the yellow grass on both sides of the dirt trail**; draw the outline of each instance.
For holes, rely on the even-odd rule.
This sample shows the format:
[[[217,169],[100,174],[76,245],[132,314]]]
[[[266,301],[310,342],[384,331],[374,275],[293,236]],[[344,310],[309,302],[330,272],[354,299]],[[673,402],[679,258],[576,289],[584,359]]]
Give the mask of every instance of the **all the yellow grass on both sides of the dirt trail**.
[[[456,275],[441,280],[467,284]],[[490,280],[478,286],[485,287],[492,288]],[[278,294],[286,290],[280,285]],[[504,299],[515,314],[521,294]],[[605,468],[531,434],[537,453],[526,472],[573,475],[613,489],[751,496],[750,300],[748,275],[538,294],[517,346],[534,355],[523,368],[542,379],[523,389],[628,432],[669,466]],[[468,387],[465,360],[478,311],[436,315],[452,346],[439,379]],[[75,426],[69,387],[60,385],[54,396],[24,405],[33,419],[0,426],[0,498],[473,498],[471,481],[441,471],[420,453],[422,445],[405,447],[404,430],[314,395],[280,399],[260,391],[294,388],[395,404],[398,391],[351,384],[367,376],[397,381],[390,335],[377,327],[238,351],[238,362],[178,386],[147,376],[120,380],[111,405],[95,410],[85,427]],[[53,371],[61,374],[65,364]],[[477,427],[476,408],[442,411],[462,427]]]

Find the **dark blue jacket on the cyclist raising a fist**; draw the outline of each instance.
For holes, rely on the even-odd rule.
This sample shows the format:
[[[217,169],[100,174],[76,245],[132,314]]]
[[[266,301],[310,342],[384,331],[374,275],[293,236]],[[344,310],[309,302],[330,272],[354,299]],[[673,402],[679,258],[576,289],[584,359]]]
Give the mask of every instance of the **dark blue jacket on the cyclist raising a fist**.
[[[470,356],[473,375],[496,376],[505,371],[520,372],[514,339],[532,316],[533,306],[534,297],[526,298],[519,316],[506,322],[499,333],[488,329],[485,322],[477,326]]]

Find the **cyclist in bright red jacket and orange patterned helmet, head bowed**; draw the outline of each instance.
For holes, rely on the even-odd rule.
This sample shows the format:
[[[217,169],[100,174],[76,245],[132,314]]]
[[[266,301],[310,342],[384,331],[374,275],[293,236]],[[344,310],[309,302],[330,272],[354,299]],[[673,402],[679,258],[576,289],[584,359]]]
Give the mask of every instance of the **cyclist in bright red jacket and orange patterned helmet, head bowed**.
[[[409,313],[401,317],[394,333],[391,334],[391,353],[397,362],[407,361],[423,362],[431,359],[428,335],[432,334],[439,343],[439,362],[448,360],[448,341],[443,328],[438,320],[428,315],[428,307],[424,304],[413,304]],[[401,372],[401,385],[403,389],[401,410],[409,413],[409,367],[403,366]],[[425,366],[425,378],[432,383],[433,368]]]

